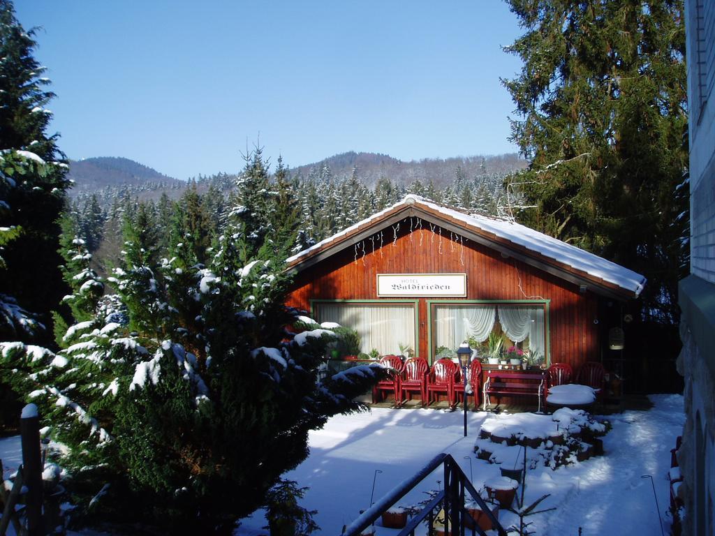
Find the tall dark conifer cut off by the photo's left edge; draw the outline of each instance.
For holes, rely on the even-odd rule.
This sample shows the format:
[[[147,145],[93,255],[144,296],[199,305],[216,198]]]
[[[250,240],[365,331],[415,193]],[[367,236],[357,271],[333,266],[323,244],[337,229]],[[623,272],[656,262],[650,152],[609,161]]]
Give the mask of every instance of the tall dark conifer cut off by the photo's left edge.
[[[0,0],[0,229],[11,229],[0,234],[0,339],[49,343],[49,334],[36,328],[49,325],[51,308],[65,294],[56,269],[56,220],[69,182],[56,136],[45,134],[51,116],[45,106],[53,94],[44,89],[45,68],[32,56],[33,36],[16,20],[11,2]],[[39,322],[18,322],[21,310]]]

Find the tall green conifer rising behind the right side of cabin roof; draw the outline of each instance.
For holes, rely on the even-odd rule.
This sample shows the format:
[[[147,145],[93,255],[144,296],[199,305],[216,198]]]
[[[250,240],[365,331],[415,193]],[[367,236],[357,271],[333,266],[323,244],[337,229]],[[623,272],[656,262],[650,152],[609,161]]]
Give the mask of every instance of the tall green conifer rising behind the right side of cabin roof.
[[[674,323],[687,258],[675,195],[688,165],[682,1],[509,0],[526,34],[504,81],[531,164],[509,179],[536,229],[649,279],[643,316]]]

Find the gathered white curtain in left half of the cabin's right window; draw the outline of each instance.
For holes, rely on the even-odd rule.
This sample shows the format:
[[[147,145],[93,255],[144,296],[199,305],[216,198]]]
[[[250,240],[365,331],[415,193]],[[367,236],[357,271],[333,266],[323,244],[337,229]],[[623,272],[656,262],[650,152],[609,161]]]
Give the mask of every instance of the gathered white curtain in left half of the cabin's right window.
[[[435,307],[435,347],[445,346],[455,350],[469,337],[479,342],[488,339],[494,327],[496,307]]]

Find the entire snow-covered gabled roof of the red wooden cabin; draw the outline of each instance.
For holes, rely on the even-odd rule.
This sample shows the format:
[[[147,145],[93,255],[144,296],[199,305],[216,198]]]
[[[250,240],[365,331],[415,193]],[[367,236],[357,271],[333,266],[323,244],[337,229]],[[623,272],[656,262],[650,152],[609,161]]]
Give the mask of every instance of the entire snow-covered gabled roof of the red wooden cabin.
[[[596,254],[567,244],[547,234],[530,229],[525,225],[513,222],[511,219],[467,214],[443,207],[430,201],[430,199],[414,194],[405,196],[402,201],[393,204],[393,206],[377,212],[369,218],[333,234],[332,237],[328,237],[312,247],[289,257],[287,264],[290,268],[295,268],[315,254],[331,249],[337,244],[350,239],[355,234],[370,227],[375,227],[384,219],[410,208],[421,209],[420,212],[432,215],[435,218],[435,223],[439,223],[441,219],[445,222],[458,224],[460,227],[480,234],[482,237],[491,239],[502,246],[530,254],[534,259],[550,262],[556,267],[570,268],[585,279],[590,279],[596,283],[606,282],[606,286],[609,286],[608,284],[615,285],[618,289],[628,292],[633,297],[637,297],[646,284],[646,278],[631,269],[622,267],[615,262],[598,257]],[[420,217],[424,217],[424,214],[421,214]]]

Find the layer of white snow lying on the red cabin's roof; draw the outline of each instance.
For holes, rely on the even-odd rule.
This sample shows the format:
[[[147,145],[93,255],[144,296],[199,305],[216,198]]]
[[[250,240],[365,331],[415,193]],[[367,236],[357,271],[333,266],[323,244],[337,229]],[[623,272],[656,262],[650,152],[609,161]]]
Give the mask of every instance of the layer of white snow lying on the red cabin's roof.
[[[467,226],[476,227],[483,232],[494,234],[496,237],[505,239],[512,244],[525,247],[531,252],[541,254],[543,257],[553,259],[557,262],[566,264],[573,269],[585,272],[591,277],[603,279],[603,281],[615,284],[621,289],[626,289],[633,292],[638,297],[646,284],[646,278],[633,272],[633,270],[622,267],[620,264],[611,262],[603,257],[584,249],[567,244],[559,239],[543,234],[525,225],[511,221],[511,219],[503,219],[497,217],[486,217],[477,214],[465,214],[455,209],[443,207],[430,199],[420,197],[415,194],[406,195],[401,201],[387,207],[380,212],[376,212],[372,216],[361,220],[360,222],[343,229],[342,231],[333,234],[331,237],[321,240],[317,244],[312,245],[302,252],[298,252],[292,257],[286,259],[287,264],[296,264],[305,257],[310,257],[313,252],[323,249],[328,244],[339,242],[340,238],[348,236],[352,232],[367,227],[371,222],[382,218],[385,214],[393,212],[403,206],[422,205],[428,209],[445,214],[446,216],[458,219]]]

